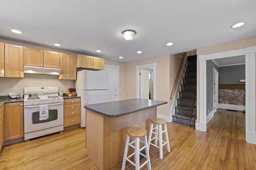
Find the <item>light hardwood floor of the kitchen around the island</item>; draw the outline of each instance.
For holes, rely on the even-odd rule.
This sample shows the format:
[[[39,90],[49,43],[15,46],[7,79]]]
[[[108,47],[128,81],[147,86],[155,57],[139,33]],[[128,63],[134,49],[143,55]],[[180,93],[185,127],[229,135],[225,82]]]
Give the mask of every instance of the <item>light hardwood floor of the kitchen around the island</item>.
[[[256,169],[256,145],[192,127],[167,123],[170,150],[163,159],[150,147],[152,170]],[[120,170],[122,163],[112,170]],[[4,146],[1,170],[97,170],[85,149],[85,129],[80,127],[28,142]],[[126,162],[126,169],[134,169]],[[147,169],[146,166],[143,169]]]

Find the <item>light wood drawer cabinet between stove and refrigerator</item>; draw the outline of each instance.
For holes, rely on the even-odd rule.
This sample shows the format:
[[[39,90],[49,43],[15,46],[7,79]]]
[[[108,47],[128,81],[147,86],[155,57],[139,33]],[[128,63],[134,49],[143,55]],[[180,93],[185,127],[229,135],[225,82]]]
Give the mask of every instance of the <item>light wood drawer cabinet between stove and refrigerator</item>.
[[[64,99],[64,127],[80,124],[80,98]]]

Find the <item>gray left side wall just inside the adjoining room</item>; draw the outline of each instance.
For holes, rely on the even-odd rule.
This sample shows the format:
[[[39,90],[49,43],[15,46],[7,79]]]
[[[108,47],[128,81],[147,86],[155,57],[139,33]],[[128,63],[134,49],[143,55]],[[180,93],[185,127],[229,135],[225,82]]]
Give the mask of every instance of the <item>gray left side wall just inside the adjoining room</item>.
[[[211,60],[206,61],[206,115],[213,110],[213,68],[218,70],[218,66]],[[209,110],[209,113],[208,113]]]

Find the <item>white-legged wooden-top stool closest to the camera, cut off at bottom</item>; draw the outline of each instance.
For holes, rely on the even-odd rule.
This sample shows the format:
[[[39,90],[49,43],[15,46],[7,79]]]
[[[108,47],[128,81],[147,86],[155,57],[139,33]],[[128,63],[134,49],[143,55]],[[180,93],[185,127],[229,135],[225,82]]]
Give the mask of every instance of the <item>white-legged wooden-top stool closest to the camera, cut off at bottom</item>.
[[[130,137],[134,137],[134,141],[130,142]],[[140,137],[143,137],[143,141],[140,140]],[[144,146],[140,148],[140,142],[144,143]],[[132,145],[134,143],[134,145]],[[132,147],[134,149],[134,152],[127,156],[128,154],[128,147]],[[140,151],[145,150],[146,155],[142,154]],[[142,168],[145,164],[148,164],[148,170],[151,170],[150,165],[150,158],[149,158],[149,152],[148,152],[148,141],[147,141],[147,131],[146,129],[143,129],[141,127],[130,127],[127,129],[127,138],[126,138],[126,144],[124,149],[124,158],[122,163],[122,170],[125,169],[126,160],[130,162],[132,165],[135,166],[136,170],[139,170]],[[129,158],[134,155],[134,162],[132,162]],[[146,158],[146,161],[140,165],[140,155],[144,156]]]

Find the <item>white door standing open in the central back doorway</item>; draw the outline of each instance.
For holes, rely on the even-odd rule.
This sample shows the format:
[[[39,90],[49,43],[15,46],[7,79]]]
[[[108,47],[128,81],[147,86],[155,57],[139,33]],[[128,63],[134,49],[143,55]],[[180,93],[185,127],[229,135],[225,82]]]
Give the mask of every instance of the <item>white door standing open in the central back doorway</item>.
[[[148,70],[140,70],[140,98],[149,99],[149,79]]]

